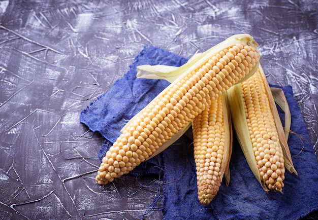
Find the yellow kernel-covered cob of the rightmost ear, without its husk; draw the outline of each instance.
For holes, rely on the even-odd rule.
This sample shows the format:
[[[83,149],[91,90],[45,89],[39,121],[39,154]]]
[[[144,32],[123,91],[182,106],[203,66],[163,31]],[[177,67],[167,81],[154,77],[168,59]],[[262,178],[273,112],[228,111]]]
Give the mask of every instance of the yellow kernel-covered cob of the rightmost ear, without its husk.
[[[261,179],[269,190],[281,191],[285,178],[284,158],[260,69],[242,82],[241,88]]]

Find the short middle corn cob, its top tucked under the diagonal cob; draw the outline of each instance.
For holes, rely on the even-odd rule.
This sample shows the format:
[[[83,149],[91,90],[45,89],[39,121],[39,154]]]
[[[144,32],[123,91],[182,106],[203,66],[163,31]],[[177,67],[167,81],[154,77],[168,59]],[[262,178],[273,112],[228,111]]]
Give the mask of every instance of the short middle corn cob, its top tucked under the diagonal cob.
[[[200,203],[208,205],[218,192],[232,152],[226,93],[193,120],[192,129],[198,198]]]

